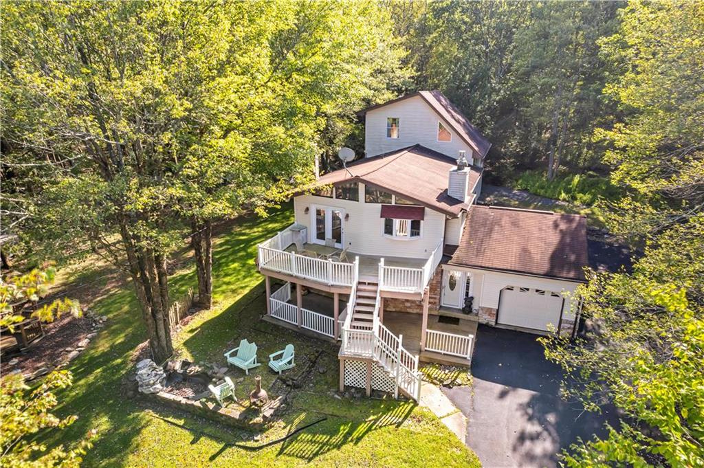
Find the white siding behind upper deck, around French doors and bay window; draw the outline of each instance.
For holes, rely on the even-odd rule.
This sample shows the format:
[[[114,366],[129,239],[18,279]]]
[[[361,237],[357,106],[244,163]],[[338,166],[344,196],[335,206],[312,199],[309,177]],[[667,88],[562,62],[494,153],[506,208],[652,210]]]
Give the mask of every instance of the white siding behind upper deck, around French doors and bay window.
[[[341,208],[349,215],[343,220],[343,242],[353,253],[365,255],[386,255],[389,257],[428,258],[430,253],[443,240],[445,215],[425,208],[420,239],[389,239],[384,236],[384,220],[379,217],[379,203],[364,203],[364,184],[359,184],[359,201],[336,200],[314,195],[301,195],[294,198],[296,222],[308,227],[308,241],[315,236],[311,225],[313,205]],[[305,213],[309,208],[308,214]]]

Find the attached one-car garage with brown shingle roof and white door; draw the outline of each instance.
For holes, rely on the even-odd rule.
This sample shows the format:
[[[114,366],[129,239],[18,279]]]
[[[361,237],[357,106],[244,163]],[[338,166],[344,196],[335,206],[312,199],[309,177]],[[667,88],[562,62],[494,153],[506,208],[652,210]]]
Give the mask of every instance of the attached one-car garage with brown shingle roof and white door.
[[[472,205],[460,245],[443,268],[471,278],[467,296],[479,322],[574,336],[574,291],[588,265],[584,216]],[[442,305],[452,307],[448,291]]]

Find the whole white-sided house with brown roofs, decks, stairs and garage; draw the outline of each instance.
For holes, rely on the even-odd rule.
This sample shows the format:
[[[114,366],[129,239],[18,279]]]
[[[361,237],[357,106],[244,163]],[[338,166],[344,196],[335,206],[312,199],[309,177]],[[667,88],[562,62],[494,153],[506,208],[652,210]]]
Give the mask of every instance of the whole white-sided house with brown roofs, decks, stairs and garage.
[[[415,399],[419,360],[469,365],[477,323],[574,335],[585,218],[477,205],[491,144],[439,91],[360,116],[364,157],[258,246],[265,319],[340,341],[341,388]]]

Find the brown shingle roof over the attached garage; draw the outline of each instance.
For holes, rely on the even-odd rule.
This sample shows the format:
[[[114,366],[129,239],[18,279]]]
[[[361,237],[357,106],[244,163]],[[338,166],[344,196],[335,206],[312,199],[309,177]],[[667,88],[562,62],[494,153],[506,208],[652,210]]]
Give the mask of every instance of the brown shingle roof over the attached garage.
[[[584,281],[586,218],[473,205],[448,263]]]

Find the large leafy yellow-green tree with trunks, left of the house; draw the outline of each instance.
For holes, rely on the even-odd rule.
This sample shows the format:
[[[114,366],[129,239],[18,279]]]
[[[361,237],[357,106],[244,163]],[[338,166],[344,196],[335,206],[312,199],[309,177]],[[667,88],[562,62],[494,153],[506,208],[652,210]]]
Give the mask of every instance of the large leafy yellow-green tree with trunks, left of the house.
[[[326,122],[397,56],[365,2],[8,2],[2,34],[10,163],[49,166],[20,226],[124,265],[157,361],[168,254],[191,241],[210,305],[213,220],[313,177]]]

